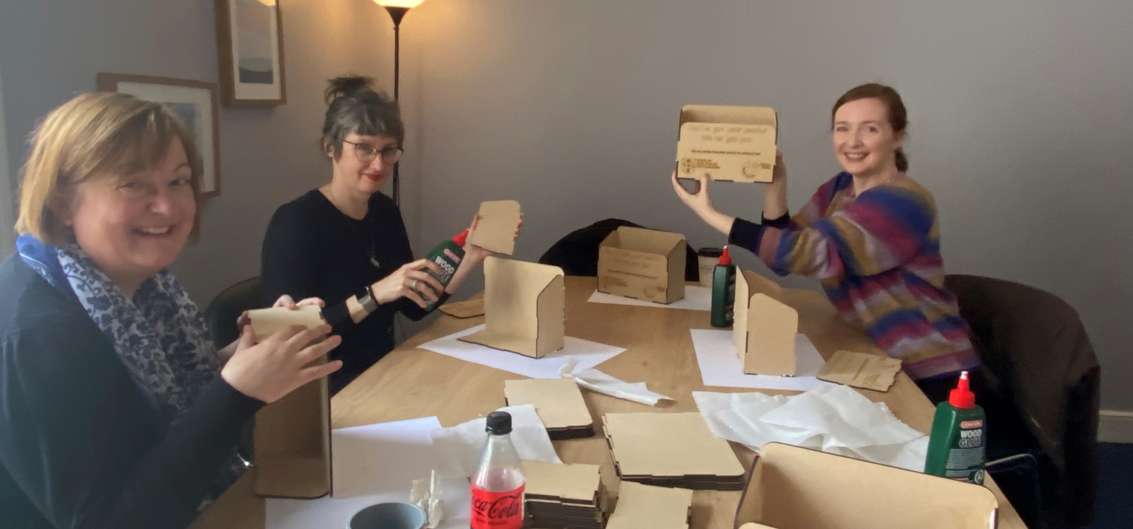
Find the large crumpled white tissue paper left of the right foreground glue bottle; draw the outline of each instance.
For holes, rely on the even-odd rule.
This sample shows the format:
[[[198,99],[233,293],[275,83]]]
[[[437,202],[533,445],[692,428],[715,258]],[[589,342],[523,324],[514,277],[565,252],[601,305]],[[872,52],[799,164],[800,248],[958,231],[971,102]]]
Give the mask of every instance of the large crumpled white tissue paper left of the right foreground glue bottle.
[[[717,437],[757,452],[780,442],[925,471],[928,436],[845,385],[791,397],[693,391],[692,398]]]

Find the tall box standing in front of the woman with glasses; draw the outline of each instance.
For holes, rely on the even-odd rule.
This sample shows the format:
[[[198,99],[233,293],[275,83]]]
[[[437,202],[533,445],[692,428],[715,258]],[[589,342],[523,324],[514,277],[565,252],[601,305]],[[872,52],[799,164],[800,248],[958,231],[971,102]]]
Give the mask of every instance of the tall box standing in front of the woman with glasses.
[[[563,347],[565,305],[561,268],[489,257],[484,261],[485,329],[459,339],[542,358]]]

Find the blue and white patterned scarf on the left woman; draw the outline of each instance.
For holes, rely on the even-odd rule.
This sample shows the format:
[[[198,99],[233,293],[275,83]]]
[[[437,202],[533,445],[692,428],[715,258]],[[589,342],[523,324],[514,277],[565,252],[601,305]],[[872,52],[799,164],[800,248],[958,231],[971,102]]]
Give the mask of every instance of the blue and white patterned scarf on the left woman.
[[[201,388],[220,374],[205,320],[168,270],[146,279],[131,301],[77,245],[65,250],[20,235],[16,249],[48,283],[83,305],[167,426],[180,418]],[[232,453],[214,494],[202,506],[244,472],[236,446]]]

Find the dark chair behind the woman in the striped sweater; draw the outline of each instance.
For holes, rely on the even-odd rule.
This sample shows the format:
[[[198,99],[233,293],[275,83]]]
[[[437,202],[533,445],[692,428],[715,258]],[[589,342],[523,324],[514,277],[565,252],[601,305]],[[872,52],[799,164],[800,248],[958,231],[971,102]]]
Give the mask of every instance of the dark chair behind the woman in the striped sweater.
[[[990,385],[980,402],[988,413],[988,472],[1029,527],[1089,523],[1100,480],[1100,367],[1077,312],[1017,283],[977,276],[945,283],[972,328]]]

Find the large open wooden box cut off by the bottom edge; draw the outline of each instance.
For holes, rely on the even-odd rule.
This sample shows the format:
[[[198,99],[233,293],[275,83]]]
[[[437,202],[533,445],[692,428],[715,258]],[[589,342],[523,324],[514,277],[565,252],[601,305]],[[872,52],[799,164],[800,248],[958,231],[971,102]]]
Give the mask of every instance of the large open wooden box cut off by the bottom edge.
[[[781,443],[751,469],[736,529],[994,529],[991,491]]]

